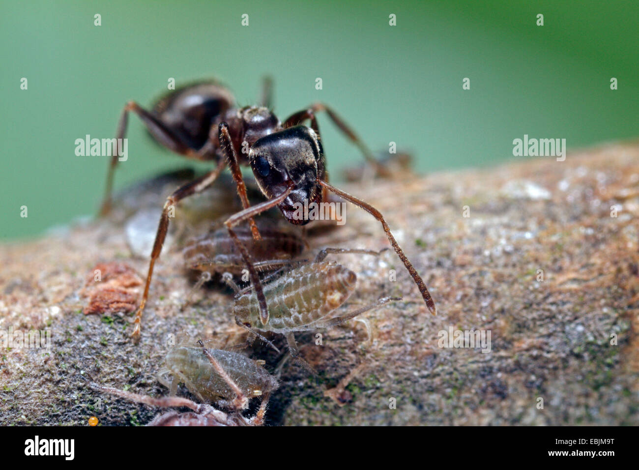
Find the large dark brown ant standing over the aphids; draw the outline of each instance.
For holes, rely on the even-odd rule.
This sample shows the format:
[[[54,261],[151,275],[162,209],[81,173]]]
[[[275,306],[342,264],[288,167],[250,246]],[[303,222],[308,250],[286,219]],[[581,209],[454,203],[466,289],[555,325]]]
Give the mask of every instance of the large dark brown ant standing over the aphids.
[[[371,151],[357,137],[357,134],[325,104],[313,104],[302,111],[291,114],[284,120],[284,123],[281,123],[277,116],[266,107],[271,100],[270,90],[272,87],[270,83],[270,80],[265,82],[263,106],[234,107],[233,95],[215,81],[196,82],[174,90],[160,99],[151,112],[144,110],[135,102],[128,102],[125,105],[118,123],[118,139],[124,137],[128,113],[133,111],[141,118],[151,136],[169,150],[197,160],[217,159],[215,169],[176,189],[164,204],[151,252],[144,294],[135,314],[134,337],[139,337],[140,334],[142,311],[144,311],[148,299],[153,267],[160,256],[166,237],[171,208],[180,200],[212,185],[227,163],[235,180],[240,200],[242,200],[243,210],[231,215],[224,224],[229,235],[240,249],[243,261],[249,270],[250,282],[258,296],[262,324],[268,323],[268,306],[258,271],[254,267],[248,249],[233,229],[243,221],[248,221],[253,238],[258,240],[260,235],[253,217],[273,207],[278,207],[289,223],[305,225],[311,219],[300,218],[298,211],[295,210],[295,205],[297,203],[303,205],[304,201],[309,203],[327,201],[328,191],[366,210],[380,221],[390,244],[417,284],[427,307],[435,315],[435,302],[433,302],[426,284],[397,244],[383,215],[365,201],[328,184],[316,114],[326,112],[346,137],[358,146],[367,161],[373,166],[380,166]],[[311,126],[302,125],[305,121],[310,121]],[[103,204],[103,213],[109,210],[112,173],[118,162],[117,154],[118,148],[114,149],[114,156],[107,175],[107,194]],[[260,191],[268,198],[267,201],[252,207],[249,205],[240,164],[250,166]]]

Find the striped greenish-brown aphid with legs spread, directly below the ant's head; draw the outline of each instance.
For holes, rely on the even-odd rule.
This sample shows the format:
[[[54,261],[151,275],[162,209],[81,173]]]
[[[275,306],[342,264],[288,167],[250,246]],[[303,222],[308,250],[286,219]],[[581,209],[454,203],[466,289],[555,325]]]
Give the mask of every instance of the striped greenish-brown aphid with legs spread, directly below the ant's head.
[[[299,357],[295,332],[330,328],[387,302],[401,301],[400,297],[383,297],[357,310],[339,313],[337,308],[355,290],[357,275],[343,265],[324,261],[329,253],[378,255],[380,252],[325,248],[318,253],[314,262],[291,269],[265,283],[264,294],[270,311],[266,324],[261,321],[258,297],[252,286],[240,290],[229,278],[224,279],[236,290],[233,305],[236,324],[265,341],[266,338],[258,331],[284,334],[291,356],[307,369],[310,366]]]

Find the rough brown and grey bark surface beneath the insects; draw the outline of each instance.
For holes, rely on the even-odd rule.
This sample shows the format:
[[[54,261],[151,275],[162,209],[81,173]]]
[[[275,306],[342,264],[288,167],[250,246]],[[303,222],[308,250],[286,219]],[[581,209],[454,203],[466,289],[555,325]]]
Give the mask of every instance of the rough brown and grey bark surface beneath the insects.
[[[363,316],[370,338],[356,321],[319,332],[323,345],[315,343],[318,332],[298,334],[319,375],[288,361],[268,424],[639,425],[639,145],[346,189],[386,215],[438,315],[427,311],[392,251],[334,258],[358,274],[344,309],[383,295],[404,301]],[[162,199],[150,194],[146,203],[160,207]],[[215,194],[208,197],[221,197]],[[218,283],[181,309],[193,281],[182,267],[180,240],[201,233],[185,223],[206,207],[200,200],[176,216],[181,226],[157,264],[141,341],[132,342],[132,314],[119,310],[139,299],[147,262],[132,256],[124,224],[142,199],[120,198],[110,219],[0,246],[0,327],[48,329],[52,343],[50,352],[1,351],[0,425],[86,425],[90,416],[102,425],[148,423],[158,409],[101,395],[84,377],[167,395],[155,374],[169,334],[187,332],[220,348],[245,340],[231,318],[233,299]],[[311,231],[308,256],[325,246],[388,246],[368,214],[349,206],[346,217],[342,227]],[[119,303],[113,313],[99,313],[100,299],[90,307],[87,297],[96,288],[93,269],[111,262],[134,272],[125,267],[111,278],[105,295]],[[449,327],[490,331],[491,352],[438,347],[438,332]],[[265,359],[269,370],[279,361],[259,342],[245,353]],[[190,396],[183,387],[178,393]]]

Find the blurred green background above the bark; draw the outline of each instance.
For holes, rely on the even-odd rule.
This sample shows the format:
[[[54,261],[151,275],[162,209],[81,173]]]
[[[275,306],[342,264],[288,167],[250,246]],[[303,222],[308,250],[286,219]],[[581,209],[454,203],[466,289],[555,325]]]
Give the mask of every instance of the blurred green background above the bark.
[[[523,134],[570,150],[638,133],[636,0],[0,4],[3,239],[95,214],[108,159],[77,157],[75,139],[113,137],[123,104],[148,106],[169,77],[216,76],[254,104],[272,74],[281,118],[327,102],[374,150],[413,150],[422,172],[514,159]],[[362,157],[326,116],[319,125],[338,180]],[[116,188],[184,164],[137,117],[129,129]]]

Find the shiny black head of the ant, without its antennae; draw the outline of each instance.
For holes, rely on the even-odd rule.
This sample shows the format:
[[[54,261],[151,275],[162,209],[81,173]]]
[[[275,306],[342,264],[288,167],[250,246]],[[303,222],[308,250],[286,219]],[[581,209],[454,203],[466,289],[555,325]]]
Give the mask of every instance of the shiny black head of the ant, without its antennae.
[[[314,130],[300,125],[262,137],[250,148],[249,163],[267,198],[292,185],[293,191],[279,209],[292,224],[309,223],[297,209],[304,207],[304,201],[321,200],[318,180],[324,177],[324,152]]]

